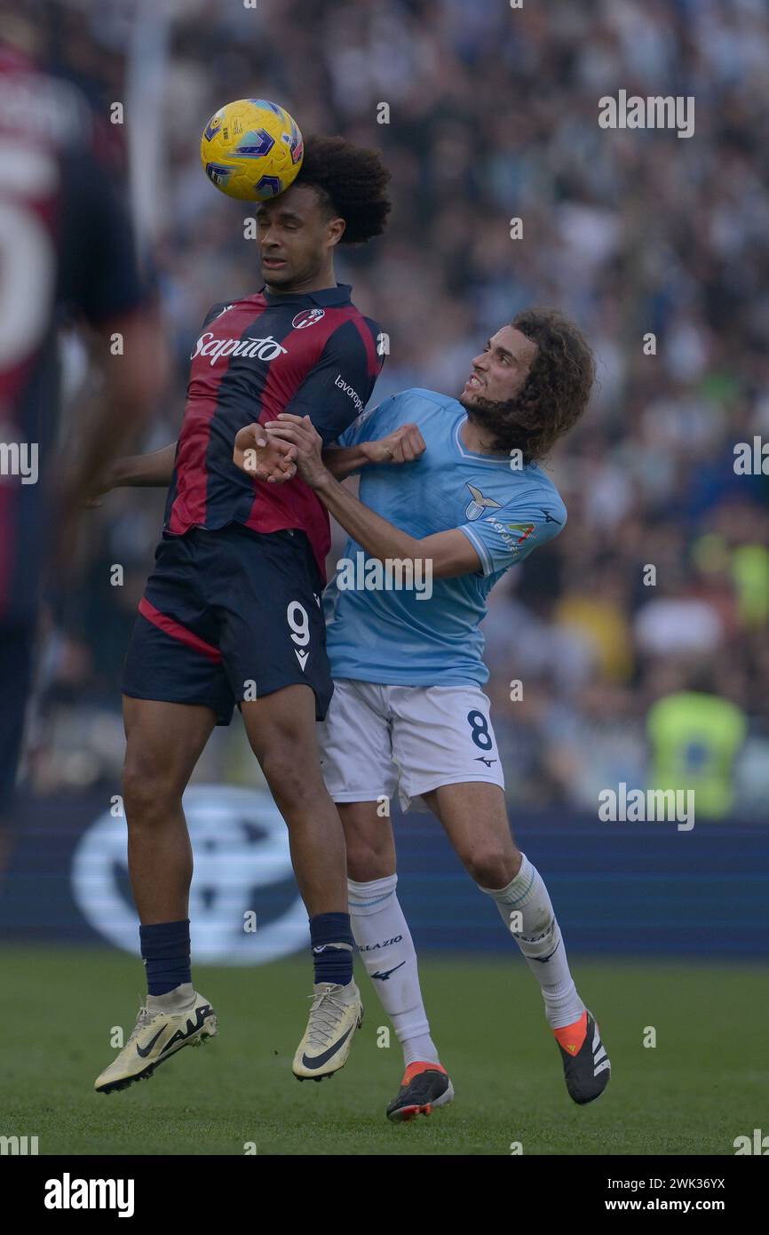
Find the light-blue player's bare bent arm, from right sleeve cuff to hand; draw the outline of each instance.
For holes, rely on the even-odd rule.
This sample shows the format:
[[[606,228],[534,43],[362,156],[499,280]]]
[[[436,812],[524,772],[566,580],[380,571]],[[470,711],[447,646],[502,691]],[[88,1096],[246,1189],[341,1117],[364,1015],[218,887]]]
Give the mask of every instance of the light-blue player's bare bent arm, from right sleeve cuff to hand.
[[[296,446],[296,466],[302,479],[315,489],[335,519],[372,557],[380,561],[428,559],[432,562],[432,573],[436,578],[474,574],[481,569],[480,558],[473,545],[458,529],[436,532],[420,540],[395,527],[358,501],[325,466],[321,457],[321,438],[309,416],[299,417],[283,412],[278,421],[270,421],[268,427],[270,432]]]

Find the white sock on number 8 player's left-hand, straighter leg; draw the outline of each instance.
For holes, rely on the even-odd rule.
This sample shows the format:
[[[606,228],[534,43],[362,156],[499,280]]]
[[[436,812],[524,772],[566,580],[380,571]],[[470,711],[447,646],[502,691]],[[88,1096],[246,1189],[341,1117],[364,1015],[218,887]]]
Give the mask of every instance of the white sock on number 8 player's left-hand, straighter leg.
[[[349,921],[360,960],[404,1049],[406,1067],[416,1060],[438,1063],[420,990],[411,931],[395,894],[396,874],[370,883],[347,881]]]

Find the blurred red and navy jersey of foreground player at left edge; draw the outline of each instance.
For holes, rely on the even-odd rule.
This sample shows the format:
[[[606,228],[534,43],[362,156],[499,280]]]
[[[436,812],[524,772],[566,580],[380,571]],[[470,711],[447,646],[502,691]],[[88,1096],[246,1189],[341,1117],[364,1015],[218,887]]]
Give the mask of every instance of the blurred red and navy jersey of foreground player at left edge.
[[[78,89],[0,43],[0,621],[35,614],[58,412],[56,324],[144,291]]]

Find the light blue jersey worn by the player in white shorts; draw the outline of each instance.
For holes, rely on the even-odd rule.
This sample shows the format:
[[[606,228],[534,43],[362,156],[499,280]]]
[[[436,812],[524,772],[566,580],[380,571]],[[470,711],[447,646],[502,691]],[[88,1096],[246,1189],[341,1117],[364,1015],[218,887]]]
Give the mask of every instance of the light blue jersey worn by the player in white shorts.
[[[433,579],[432,595],[418,599],[416,589],[346,587],[349,571],[337,568],[326,589],[335,678],[415,687],[486,682],[479,630],[486,597],[509,567],[560,531],[567,511],[537,464],[516,469],[509,458],[469,451],[460,436],[465,419],[464,408],[448,395],[405,390],[364,412],[339,437],[339,446],[354,446],[417,425],[425,453],[412,463],[365,467],[360,501],[420,540],[459,529],[481,571]],[[344,558],[363,568],[358,579],[365,577],[370,559],[360,545],[348,540]]]

